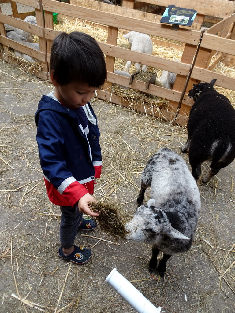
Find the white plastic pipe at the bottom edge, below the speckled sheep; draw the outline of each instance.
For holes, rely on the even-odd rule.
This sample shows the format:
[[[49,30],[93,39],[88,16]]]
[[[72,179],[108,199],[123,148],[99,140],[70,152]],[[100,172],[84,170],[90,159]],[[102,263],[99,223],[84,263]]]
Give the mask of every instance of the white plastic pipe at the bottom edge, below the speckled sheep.
[[[138,313],[160,313],[161,307],[156,308],[144,295],[136,289],[117,269],[107,276],[109,283]]]

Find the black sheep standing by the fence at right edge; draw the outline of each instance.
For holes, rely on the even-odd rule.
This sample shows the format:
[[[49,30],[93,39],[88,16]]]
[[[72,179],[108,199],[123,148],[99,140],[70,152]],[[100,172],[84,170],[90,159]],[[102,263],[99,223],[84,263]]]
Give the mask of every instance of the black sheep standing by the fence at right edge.
[[[201,175],[201,164],[211,161],[211,170],[204,182],[235,158],[235,109],[227,97],[214,90],[215,81],[193,84],[189,91],[195,102],[187,124],[188,140],[181,149],[189,152],[192,175],[196,180]]]

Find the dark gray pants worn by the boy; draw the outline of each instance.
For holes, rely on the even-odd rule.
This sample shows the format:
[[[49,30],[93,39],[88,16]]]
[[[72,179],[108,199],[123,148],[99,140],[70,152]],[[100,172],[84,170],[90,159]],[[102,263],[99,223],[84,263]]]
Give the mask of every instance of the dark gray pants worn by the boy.
[[[62,248],[71,248],[74,244],[78,226],[82,219],[82,213],[76,207],[60,207],[60,244]]]

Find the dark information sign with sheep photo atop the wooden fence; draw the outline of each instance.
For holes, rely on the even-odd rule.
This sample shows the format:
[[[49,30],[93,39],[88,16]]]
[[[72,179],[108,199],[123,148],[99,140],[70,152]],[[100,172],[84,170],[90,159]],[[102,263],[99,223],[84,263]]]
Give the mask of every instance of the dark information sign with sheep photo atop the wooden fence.
[[[160,23],[191,26],[197,11],[194,9],[177,8],[174,4],[169,5],[160,20]]]

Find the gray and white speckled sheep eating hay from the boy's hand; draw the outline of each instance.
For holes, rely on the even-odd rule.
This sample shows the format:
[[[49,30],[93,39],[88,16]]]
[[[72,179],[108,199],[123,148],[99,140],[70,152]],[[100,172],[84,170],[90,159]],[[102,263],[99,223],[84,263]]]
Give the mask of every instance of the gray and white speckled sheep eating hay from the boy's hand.
[[[151,199],[141,205],[144,192],[151,186]],[[158,272],[164,276],[167,260],[172,254],[190,249],[201,207],[195,179],[184,159],[163,148],[148,161],[141,175],[140,207],[126,224],[127,240],[152,244],[149,272],[157,267],[157,256],[163,252]]]

